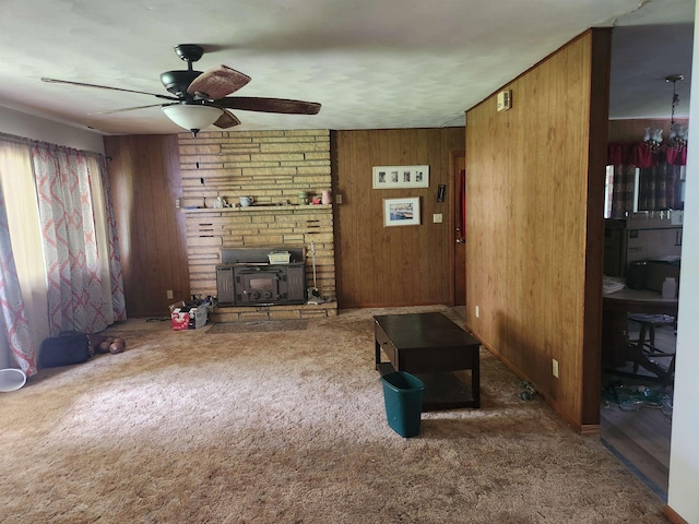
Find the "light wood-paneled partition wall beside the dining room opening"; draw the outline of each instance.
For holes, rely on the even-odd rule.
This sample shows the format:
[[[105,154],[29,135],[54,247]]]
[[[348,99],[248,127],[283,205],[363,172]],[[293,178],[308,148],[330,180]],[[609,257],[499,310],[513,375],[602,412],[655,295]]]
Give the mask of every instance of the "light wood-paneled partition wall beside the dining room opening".
[[[494,95],[466,114],[467,325],[583,431],[600,416],[609,44],[592,29],[503,86],[512,109]]]

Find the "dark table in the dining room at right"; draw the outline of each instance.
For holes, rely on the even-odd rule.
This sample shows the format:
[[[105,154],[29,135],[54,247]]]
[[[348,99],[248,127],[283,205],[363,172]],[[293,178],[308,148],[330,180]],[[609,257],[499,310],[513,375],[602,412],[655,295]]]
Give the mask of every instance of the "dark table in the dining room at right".
[[[629,343],[629,313],[667,314],[677,318],[677,299],[663,298],[651,290],[623,289],[604,295],[602,308],[602,367],[620,368],[632,361],[663,382],[672,381],[667,371],[652,362],[638,344]]]

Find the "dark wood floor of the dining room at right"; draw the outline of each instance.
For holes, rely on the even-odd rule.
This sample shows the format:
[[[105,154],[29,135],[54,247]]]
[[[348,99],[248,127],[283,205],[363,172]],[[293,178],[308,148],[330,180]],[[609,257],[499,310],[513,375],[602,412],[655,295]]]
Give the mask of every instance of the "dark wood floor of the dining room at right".
[[[674,326],[659,326],[655,330],[655,346],[662,352],[674,353]],[[638,331],[639,325],[630,322],[630,338],[635,338]],[[667,368],[671,358],[653,360]],[[615,371],[620,372],[605,372],[602,376],[601,438],[629,469],[666,501],[673,388],[664,388],[642,368],[636,377],[631,377],[630,365]],[[629,395],[625,396],[625,393]],[[631,402],[625,404],[627,400]]]

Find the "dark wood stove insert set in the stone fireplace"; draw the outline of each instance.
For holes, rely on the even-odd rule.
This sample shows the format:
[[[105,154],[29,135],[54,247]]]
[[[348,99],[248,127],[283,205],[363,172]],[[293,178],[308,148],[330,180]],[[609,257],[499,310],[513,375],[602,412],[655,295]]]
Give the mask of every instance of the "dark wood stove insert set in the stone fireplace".
[[[266,253],[269,249],[258,251]],[[256,262],[256,259],[260,260],[257,252],[224,253],[222,259],[227,263],[216,265],[220,306],[280,306],[306,301],[306,265],[303,261]]]

